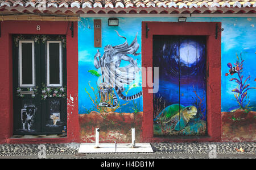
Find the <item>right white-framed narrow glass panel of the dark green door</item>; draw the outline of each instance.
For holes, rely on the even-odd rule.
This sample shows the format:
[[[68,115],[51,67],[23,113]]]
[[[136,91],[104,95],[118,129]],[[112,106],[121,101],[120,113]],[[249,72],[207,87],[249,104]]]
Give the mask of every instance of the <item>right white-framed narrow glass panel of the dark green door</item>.
[[[47,42],[47,86],[62,86],[61,42]]]

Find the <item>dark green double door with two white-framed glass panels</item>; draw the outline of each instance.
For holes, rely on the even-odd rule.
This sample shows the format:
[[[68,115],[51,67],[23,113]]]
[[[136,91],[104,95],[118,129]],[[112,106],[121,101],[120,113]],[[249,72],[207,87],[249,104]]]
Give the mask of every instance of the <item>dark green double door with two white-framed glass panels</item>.
[[[67,131],[63,35],[13,35],[14,135]]]

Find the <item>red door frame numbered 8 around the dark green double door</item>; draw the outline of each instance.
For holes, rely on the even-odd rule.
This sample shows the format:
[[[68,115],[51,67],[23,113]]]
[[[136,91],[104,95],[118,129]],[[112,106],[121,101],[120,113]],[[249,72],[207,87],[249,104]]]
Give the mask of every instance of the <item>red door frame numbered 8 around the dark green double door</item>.
[[[36,29],[40,26],[40,30]],[[79,140],[77,22],[4,21],[0,38],[0,143],[66,143]],[[12,139],[13,56],[12,34],[59,34],[67,37],[67,138]]]

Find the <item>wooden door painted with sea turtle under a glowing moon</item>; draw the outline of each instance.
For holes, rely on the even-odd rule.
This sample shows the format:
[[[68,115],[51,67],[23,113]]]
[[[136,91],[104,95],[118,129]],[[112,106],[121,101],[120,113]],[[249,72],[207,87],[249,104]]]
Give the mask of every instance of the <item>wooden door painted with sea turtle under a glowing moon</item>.
[[[206,37],[153,35],[154,135],[207,135]]]

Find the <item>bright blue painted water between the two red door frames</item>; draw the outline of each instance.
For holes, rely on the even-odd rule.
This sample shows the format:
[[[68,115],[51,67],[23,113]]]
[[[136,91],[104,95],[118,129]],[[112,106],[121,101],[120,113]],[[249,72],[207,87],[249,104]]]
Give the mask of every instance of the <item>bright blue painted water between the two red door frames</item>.
[[[104,19],[105,20],[105,19]],[[93,41],[93,19],[82,19],[79,24],[79,113],[89,113],[90,111],[94,110],[97,111],[97,108],[93,104],[92,99],[96,99],[98,96],[98,85],[102,82],[102,78],[98,77],[97,75],[102,76],[101,68],[97,69],[94,65],[94,55],[97,53],[97,49],[101,55],[105,52],[104,47],[106,45],[111,45],[114,47],[115,45],[120,45],[125,43],[125,39],[121,36],[124,36],[127,40],[128,44],[131,44],[135,37],[137,39],[141,39],[141,36],[138,35],[138,28],[133,29],[134,34],[131,32],[123,32],[120,27],[109,27],[107,22],[102,22],[102,48],[94,48],[93,43],[88,43],[88,40]],[[86,30],[86,31],[85,31]],[[108,38],[106,35],[108,32]],[[90,34],[90,36],[88,36]],[[119,34],[119,35],[118,35]],[[84,39],[86,37],[86,39]],[[116,46],[117,47],[117,46]],[[94,51],[92,51],[94,49]],[[141,68],[141,47],[139,45],[137,49],[137,55],[130,55],[127,54],[128,57],[132,58],[134,61],[137,62],[138,68]],[[102,57],[102,56],[101,56]],[[122,60],[119,67],[126,67],[127,65],[131,64],[131,61]],[[125,84],[123,86],[125,90],[122,94],[125,96],[132,96],[142,91],[142,79],[141,79],[141,71],[135,73],[135,80],[130,83],[129,85]],[[94,90],[93,90],[94,89]],[[88,93],[87,93],[88,92]],[[96,93],[95,93],[96,92]],[[116,96],[117,90],[114,90]],[[131,101],[124,101],[121,98],[118,98],[118,105],[125,105],[125,107],[119,107],[117,112],[125,112],[125,113],[133,113],[133,111],[142,111],[142,97],[137,99],[133,99]]]

